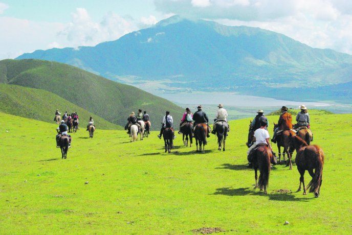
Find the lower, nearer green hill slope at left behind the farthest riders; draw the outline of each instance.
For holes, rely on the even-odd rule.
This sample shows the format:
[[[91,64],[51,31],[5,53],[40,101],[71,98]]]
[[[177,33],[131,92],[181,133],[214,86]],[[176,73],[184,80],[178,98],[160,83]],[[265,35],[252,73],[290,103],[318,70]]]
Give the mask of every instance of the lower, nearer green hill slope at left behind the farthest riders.
[[[64,111],[77,112],[80,116],[81,124],[87,123],[89,117],[92,116],[97,128],[123,129],[121,126],[109,123],[101,117],[46,90],[0,84],[0,111],[2,112],[53,122],[56,109],[59,109],[62,114]]]

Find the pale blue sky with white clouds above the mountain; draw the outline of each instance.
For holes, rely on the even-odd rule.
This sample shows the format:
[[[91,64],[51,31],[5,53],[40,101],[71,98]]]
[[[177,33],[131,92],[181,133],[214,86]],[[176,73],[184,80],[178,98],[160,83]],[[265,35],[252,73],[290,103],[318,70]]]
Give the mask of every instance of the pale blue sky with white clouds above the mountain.
[[[0,59],[94,46],[175,14],[352,54],[352,0],[0,0]]]

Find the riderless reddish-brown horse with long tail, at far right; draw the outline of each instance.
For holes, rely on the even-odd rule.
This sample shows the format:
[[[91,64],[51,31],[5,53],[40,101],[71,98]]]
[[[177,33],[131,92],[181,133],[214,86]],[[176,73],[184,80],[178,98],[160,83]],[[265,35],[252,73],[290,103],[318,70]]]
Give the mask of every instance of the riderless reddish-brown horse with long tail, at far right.
[[[296,165],[299,174],[299,187],[297,192],[301,191],[303,183],[303,195],[306,195],[304,184],[304,173],[307,170],[312,176],[312,181],[308,184],[307,189],[310,193],[314,193],[317,198],[320,195],[320,187],[322,183],[323,167],[324,167],[324,152],[317,145],[308,145],[301,137],[292,135],[292,142],[296,148]],[[315,169],[314,173],[313,170]]]

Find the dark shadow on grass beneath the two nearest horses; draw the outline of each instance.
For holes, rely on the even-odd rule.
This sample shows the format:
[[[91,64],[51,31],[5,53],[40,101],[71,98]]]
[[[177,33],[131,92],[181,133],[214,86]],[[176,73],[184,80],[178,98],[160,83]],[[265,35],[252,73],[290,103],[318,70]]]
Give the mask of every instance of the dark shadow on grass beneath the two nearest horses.
[[[302,201],[307,202],[311,198],[296,198],[293,194],[279,194],[279,193],[269,193],[264,194],[263,191],[259,191],[259,189],[250,189],[249,187],[240,187],[239,189],[231,189],[230,187],[221,187],[216,189],[216,192],[213,195],[226,195],[226,196],[245,196],[245,195],[253,195],[253,196],[263,196],[268,197],[269,200],[274,201]]]

